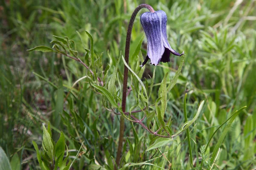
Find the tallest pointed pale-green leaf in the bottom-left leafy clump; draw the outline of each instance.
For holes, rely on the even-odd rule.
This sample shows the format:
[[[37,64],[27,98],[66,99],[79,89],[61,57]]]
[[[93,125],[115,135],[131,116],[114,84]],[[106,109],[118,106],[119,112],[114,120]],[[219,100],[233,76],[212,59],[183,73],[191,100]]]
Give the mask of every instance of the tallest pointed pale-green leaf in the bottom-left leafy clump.
[[[45,152],[49,156],[49,158],[53,160],[54,156],[53,156],[52,139],[46,127],[44,126],[44,124],[43,124],[43,147],[45,149]]]

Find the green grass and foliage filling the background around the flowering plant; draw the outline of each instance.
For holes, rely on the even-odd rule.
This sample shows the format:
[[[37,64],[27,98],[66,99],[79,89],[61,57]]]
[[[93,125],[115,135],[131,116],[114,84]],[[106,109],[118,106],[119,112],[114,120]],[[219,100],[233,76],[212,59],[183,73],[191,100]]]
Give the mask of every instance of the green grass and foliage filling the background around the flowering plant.
[[[75,160],[71,169],[113,169],[120,116],[106,109],[113,108],[113,103],[99,94],[103,92],[99,88],[97,91],[92,84],[101,86],[97,81],[100,77],[104,88],[111,91],[111,95],[116,94],[113,99],[119,102],[124,63],[122,59],[119,65],[117,63],[120,51],[124,55],[128,21],[140,3],[166,12],[169,43],[176,51],[184,51],[186,57],[177,84],[169,91],[168,100],[164,100],[167,107],[164,122],[161,122],[157,115],[162,113],[154,117],[157,107],[161,111],[161,105],[154,104],[163,95],[163,84],[168,86],[174,77],[181,57],[171,56],[172,62],[160,63],[156,68],[149,64],[145,65],[145,70],[138,67],[143,62],[142,55],[145,58],[147,47],[140,25],[140,14],[147,10],[140,11],[131,36],[129,66],[141,78],[146,91],[152,88],[152,92],[148,101],[143,100],[145,91],[143,93],[142,85],[129,72],[128,86],[133,91],[127,98],[127,111],[149,105],[149,112],[133,115],[142,119],[147,114],[143,123],[147,125],[146,120],[151,119],[148,125],[155,122],[155,130],[166,122],[170,125],[169,132],[175,134],[186,119],[196,116],[201,101],[205,103],[198,119],[173,140],[155,138],[139,124],[126,119],[120,167],[128,166],[126,169],[131,170],[199,169],[203,162],[202,169],[256,168],[255,1],[0,2],[0,146],[10,161],[18,156],[21,169],[40,169],[32,140],[42,151],[42,123],[47,125],[48,121],[54,142],[58,141],[61,131],[64,134],[70,153],[68,162]],[[93,37],[94,53],[91,52],[92,40],[85,30]],[[76,49],[79,58],[90,65],[94,76],[81,63],[65,55],[26,51],[39,45],[51,48],[53,43],[49,42],[56,40],[52,35],[74,40],[76,47],[70,42],[70,48]],[[141,40],[144,41],[140,48]],[[91,51],[87,53],[84,48]],[[72,55],[70,51],[68,54]],[[81,77],[84,79],[72,88]],[[138,94],[143,95],[138,99],[139,104]],[[164,102],[163,99],[159,101]],[[136,105],[140,107],[134,107]],[[247,107],[231,117],[244,106]],[[113,111],[119,112],[118,109]],[[168,122],[170,117],[172,122]],[[215,133],[215,130],[218,131]],[[162,144],[155,149],[156,141]],[[154,149],[147,150],[152,146]],[[79,157],[80,147],[84,154]]]

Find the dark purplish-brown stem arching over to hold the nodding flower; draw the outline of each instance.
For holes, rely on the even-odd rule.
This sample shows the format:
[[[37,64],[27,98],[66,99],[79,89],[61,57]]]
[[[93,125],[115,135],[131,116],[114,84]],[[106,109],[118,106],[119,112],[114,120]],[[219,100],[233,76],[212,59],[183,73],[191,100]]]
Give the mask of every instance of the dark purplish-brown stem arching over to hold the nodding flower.
[[[137,8],[134,9],[134,12],[131,15],[131,19],[128,25],[127,34],[126,34],[126,42],[125,42],[125,62],[129,64],[129,51],[130,51],[130,42],[131,42],[131,31],[132,26],[134,24],[135,17],[137,13],[142,8],[148,8],[150,12],[154,12],[154,9],[148,5],[148,4],[140,4],[137,6]],[[128,68],[125,66],[124,69],[124,81],[123,81],[123,92],[122,92],[122,111],[125,112],[126,108],[126,92],[127,92],[127,80],[128,80]],[[116,154],[116,166],[114,170],[117,170],[119,167],[120,159],[121,159],[121,153],[122,153],[122,144],[123,144],[123,136],[124,136],[124,130],[125,130],[125,118],[123,116],[120,116],[120,133],[119,133],[119,143],[118,143],[118,149]]]

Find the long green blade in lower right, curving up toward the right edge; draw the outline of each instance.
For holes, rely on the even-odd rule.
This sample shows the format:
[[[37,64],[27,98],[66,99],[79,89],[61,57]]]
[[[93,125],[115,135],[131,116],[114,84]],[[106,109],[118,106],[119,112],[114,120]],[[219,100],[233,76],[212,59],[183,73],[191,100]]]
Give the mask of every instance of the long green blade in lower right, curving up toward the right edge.
[[[214,150],[213,150],[213,152],[212,152],[211,162],[213,162],[213,161],[215,160],[215,157],[216,157],[216,155],[217,155],[217,153],[218,153],[218,149],[219,149],[219,147],[221,146],[221,144],[222,144],[222,142],[223,142],[225,136],[227,135],[227,132],[230,130],[232,122],[235,120],[236,116],[238,116],[239,113],[240,113],[244,108],[246,108],[246,106],[244,106],[244,107],[240,108],[239,110],[237,110],[237,111],[233,114],[233,116],[231,117],[231,119],[229,120],[228,125],[224,128],[224,130],[223,130],[223,132],[221,133],[221,136],[218,138],[218,142],[217,142],[217,144],[215,145]]]

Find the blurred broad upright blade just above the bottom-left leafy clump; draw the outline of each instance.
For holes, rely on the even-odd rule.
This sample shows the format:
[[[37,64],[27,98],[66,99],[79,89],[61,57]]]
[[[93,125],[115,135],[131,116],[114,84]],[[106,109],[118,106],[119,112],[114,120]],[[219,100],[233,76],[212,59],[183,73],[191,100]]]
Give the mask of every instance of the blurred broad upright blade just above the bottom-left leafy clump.
[[[57,91],[57,99],[55,105],[55,112],[53,114],[54,127],[59,127],[61,122],[61,114],[63,113],[63,105],[64,105],[64,89],[62,84],[62,78],[58,81],[58,91]]]

